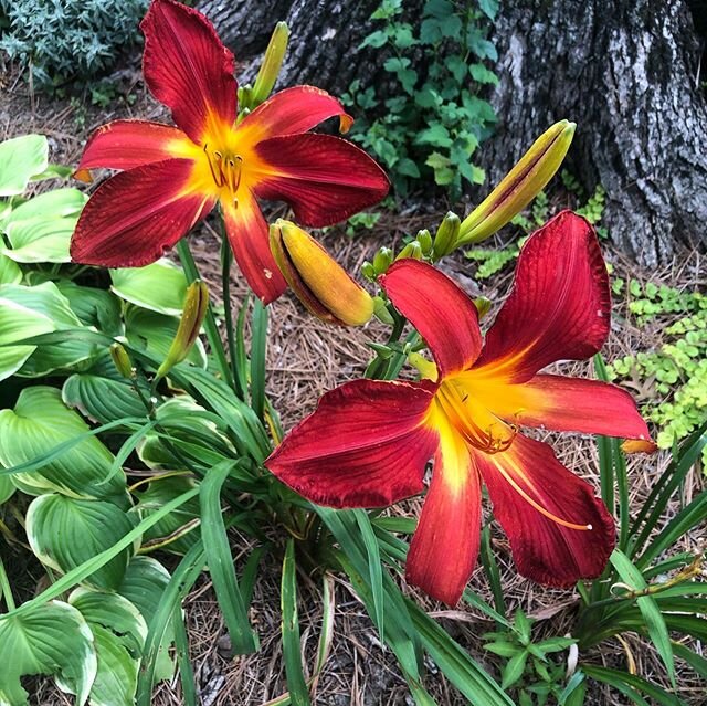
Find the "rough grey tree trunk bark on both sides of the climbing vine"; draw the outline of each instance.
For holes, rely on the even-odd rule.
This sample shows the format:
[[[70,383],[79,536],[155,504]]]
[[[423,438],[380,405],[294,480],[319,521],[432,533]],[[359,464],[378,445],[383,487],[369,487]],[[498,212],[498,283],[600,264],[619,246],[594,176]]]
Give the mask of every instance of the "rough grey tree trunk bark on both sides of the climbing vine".
[[[497,133],[479,150],[499,179],[561,118],[578,123],[569,168],[588,191],[606,189],[604,222],[641,263],[665,262],[676,244],[707,242],[707,99],[688,1],[505,0],[495,28],[500,83],[490,97]],[[252,81],[272,28],[285,19],[291,46],[278,87],[309,83],[334,95],[355,78],[384,86],[387,54],[359,50],[380,0],[202,0]],[[424,0],[405,0],[415,23]],[[699,19],[697,11],[696,15]],[[380,93],[380,92],[379,92]]]

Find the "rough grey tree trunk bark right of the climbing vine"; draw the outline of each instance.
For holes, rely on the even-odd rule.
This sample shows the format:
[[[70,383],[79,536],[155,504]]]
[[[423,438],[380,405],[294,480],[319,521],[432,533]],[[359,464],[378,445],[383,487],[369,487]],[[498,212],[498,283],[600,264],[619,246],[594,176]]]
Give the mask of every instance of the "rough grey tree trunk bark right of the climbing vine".
[[[699,4],[699,3],[697,3]],[[682,0],[514,0],[496,24],[492,179],[557,119],[578,123],[571,170],[606,189],[612,240],[644,265],[707,243],[707,101]]]

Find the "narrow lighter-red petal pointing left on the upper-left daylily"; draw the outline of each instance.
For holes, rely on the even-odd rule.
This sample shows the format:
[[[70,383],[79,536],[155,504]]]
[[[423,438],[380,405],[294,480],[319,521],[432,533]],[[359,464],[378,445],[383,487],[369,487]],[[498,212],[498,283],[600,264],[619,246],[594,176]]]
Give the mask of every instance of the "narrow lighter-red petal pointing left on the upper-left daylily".
[[[175,157],[175,144],[186,140],[176,127],[148,120],[114,120],[88,138],[76,172],[105,167],[134,169]]]

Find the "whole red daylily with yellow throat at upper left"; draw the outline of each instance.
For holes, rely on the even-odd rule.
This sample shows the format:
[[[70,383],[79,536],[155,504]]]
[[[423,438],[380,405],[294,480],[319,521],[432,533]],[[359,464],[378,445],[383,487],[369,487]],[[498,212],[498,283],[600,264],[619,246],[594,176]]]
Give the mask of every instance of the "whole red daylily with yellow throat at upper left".
[[[330,225],[380,201],[381,168],[338,137],[307,133],[338,116],[324,91],[295,86],[240,123],[233,54],[196,10],[155,0],[141,24],[145,82],[178,127],[115,120],[91,137],[77,168],[125,170],[91,197],[72,239],[74,262],[137,267],[155,262],[217,203],[235,260],[265,303],[286,287],[257,199],[289,203],[306,225]]]

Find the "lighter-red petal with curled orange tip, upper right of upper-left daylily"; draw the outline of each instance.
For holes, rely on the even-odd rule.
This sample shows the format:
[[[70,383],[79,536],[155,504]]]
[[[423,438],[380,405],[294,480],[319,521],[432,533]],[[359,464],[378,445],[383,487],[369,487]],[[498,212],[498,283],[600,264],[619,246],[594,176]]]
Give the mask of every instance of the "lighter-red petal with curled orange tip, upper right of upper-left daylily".
[[[314,86],[293,86],[276,93],[239,124],[238,133],[250,143],[270,137],[306,133],[324,120],[339,116],[346,133],[354,118],[326,91]]]

